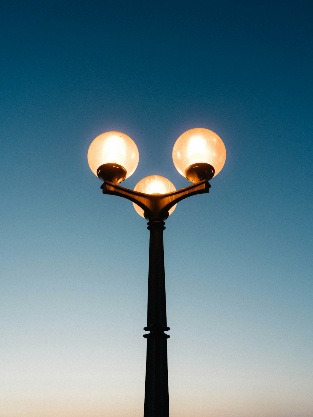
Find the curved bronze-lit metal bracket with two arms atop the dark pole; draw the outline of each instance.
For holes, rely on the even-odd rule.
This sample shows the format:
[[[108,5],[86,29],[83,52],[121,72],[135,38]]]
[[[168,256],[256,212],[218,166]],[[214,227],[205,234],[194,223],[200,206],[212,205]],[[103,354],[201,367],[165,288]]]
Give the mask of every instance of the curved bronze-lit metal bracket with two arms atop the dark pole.
[[[166,220],[169,216],[169,209],[184,198],[196,194],[208,193],[210,184],[207,180],[199,181],[189,187],[181,188],[167,194],[145,194],[129,190],[110,181],[104,181],[101,188],[103,194],[112,194],[127,198],[144,210],[147,220]]]

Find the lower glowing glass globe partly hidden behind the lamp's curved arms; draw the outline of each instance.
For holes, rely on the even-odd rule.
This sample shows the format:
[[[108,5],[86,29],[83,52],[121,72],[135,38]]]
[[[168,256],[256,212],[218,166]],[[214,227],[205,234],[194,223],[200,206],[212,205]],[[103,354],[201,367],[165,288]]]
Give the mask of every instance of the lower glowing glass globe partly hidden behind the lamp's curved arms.
[[[145,194],[167,194],[172,191],[176,191],[174,184],[171,183],[167,178],[164,178],[159,175],[150,175],[149,177],[142,178],[139,183],[136,184],[134,191],[139,191],[139,193]],[[142,208],[133,203],[133,206],[136,212],[144,217],[144,211]],[[177,204],[169,209],[169,215],[173,213]]]

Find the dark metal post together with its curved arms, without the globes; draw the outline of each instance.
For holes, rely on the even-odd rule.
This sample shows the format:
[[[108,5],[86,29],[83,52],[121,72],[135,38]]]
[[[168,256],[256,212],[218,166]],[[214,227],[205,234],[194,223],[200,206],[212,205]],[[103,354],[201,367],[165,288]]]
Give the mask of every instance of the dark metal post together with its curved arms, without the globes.
[[[114,173],[114,175],[117,174]],[[101,175],[99,177],[102,178]],[[169,417],[167,372],[167,339],[169,335],[164,333],[169,330],[165,300],[164,220],[169,216],[170,208],[176,203],[196,194],[208,193],[210,187],[207,179],[167,194],[140,193],[107,180],[101,186],[103,194],[120,196],[136,203],[144,210],[144,216],[149,220],[148,314],[147,326],[144,327],[144,330],[150,333],[144,335],[147,339],[144,417]]]

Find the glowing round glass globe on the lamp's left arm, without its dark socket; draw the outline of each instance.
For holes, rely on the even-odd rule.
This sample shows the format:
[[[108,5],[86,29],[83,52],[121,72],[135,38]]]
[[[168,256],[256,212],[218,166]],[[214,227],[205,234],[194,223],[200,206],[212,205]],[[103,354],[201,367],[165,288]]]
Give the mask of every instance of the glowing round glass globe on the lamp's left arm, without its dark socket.
[[[97,176],[98,168],[103,164],[117,164],[126,170],[124,178],[128,178],[137,168],[139,152],[129,136],[121,132],[106,132],[91,142],[87,159],[91,171]]]

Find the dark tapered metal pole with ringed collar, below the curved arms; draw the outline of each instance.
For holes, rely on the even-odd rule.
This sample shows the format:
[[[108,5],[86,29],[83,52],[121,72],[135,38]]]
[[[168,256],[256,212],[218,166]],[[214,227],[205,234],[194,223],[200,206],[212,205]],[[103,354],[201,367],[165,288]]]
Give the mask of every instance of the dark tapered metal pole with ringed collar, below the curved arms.
[[[163,230],[164,221],[148,222],[150,230],[148,317],[144,417],[169,417]]]

